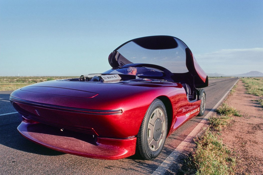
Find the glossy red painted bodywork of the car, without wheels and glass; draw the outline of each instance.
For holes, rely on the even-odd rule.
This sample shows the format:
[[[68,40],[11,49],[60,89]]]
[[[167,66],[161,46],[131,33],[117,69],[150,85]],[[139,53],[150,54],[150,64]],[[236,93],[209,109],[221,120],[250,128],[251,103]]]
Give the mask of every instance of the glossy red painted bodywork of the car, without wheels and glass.
[[[114,52],[109,59],[112,55]],[[189,72],[174,75],[189,79],[190,74],[195,74],[198,76],[195,86],[207,86],[208,77],[191,51],[186,57],[186,62],[194,66],[188,68]],[[160,99],[167,110],[168,136],[199,113],[201,100],[187,99],[180,81],[123,77],[125,81],[115,83],[45,81],[12,92],[10,101],[23,116],[18,131],[27,139],[57,151],[120,159],[135,154],[136,135],[154,99]]]

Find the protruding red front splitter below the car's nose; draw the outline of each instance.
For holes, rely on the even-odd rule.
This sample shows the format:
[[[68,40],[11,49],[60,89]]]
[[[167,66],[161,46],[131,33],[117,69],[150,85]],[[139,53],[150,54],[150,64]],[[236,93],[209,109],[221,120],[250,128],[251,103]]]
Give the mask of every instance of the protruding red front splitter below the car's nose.
[[[94,139],[91,135],[60,131],[49,125],[25,121],[22,121],[17,130],[34,143],[68,154],[106,160],[121,159],[135,154],[135,136],[129,139]]]

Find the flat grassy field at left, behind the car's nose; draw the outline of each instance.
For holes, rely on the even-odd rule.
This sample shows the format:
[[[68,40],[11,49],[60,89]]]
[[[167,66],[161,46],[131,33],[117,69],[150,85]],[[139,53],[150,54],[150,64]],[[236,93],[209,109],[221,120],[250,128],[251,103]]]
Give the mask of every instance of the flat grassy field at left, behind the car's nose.
[[[49,80],[76,78],[75,76],[0,76],[0,91],[16,90]]]

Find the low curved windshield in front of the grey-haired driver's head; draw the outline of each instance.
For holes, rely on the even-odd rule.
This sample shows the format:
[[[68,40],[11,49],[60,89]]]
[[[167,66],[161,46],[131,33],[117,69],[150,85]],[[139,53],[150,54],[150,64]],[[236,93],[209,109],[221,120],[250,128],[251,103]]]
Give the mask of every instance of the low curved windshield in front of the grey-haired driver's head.
[[[163,71],[150,67],[127,67],[119,69],[110,69],[103,74],[129,74],[137,76],[163,76]]]

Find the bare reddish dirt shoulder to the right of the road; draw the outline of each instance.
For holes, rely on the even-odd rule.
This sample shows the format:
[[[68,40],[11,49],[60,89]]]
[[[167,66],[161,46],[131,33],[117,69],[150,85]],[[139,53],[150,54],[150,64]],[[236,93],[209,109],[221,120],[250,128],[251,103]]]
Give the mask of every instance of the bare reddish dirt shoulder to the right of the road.
[[[242,117],[233,116],[233,122],[221,137],[237,157],[237,174],[263,174],[263,108],[253,101],[260,97],[245,91],[239,80],[235,92],[227,98],[226,103]]]

